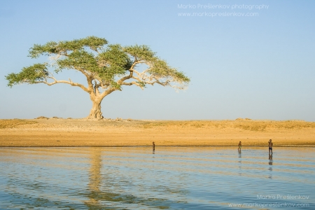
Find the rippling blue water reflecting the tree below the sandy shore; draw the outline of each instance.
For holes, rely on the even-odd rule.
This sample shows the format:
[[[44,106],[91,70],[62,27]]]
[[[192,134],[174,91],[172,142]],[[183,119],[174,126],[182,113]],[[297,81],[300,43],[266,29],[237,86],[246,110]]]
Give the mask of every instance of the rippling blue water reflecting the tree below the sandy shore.
[[[314,152],[0,148],[0,209],[314,209]]]

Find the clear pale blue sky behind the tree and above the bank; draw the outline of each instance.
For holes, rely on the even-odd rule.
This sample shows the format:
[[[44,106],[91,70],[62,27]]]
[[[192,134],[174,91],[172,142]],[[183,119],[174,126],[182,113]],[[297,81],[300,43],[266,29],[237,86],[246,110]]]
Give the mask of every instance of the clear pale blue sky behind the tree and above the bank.
[[[230,8],[179,8],[209,3]],[[232,10],[235,4],[268,8]],[[38,62],[27,57],[34,43],[99,36],[149,45],[191,78],[179,93],[158,86],[113,92],[102,102],[105,118],[315,121],[314,8],[315,1],[1,0],[0,118],[87,116],[92,103],[78,87],[9,88],[4,76]],[[205,16],[225,12],[258,16]],[[84,83],[74,71],[58,76]]]

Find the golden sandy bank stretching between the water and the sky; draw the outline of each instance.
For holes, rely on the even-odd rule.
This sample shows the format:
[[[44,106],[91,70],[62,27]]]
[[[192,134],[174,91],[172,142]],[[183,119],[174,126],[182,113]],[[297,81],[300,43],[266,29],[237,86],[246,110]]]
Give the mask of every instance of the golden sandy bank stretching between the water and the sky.
[[[300,120],[0,120],[0,146],[315,146]]]

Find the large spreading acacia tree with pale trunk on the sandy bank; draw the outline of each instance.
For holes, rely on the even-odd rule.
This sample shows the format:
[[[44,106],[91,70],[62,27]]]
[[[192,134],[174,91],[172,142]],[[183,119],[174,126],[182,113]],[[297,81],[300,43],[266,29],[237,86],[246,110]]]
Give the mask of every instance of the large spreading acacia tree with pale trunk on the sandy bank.
[[[80,87],[90,94],[92,109],[89,119],[101,119],[101,102],[104,97],[123,85],[162,85],[183,90],[190,79],[155,55],[146,45],[109,45],[105,38],[87,36],[73,41],[50,41],[44,45],[35,44],[29,50],[29,57],[49,57],[50,62],[37,63],[24,67],[19,73],[6,76],[8,86],[28,83],[55,85],[66,83]],[[145,68],[139,66],[146,66]],[[144,69],[139,71],[139,69]],[[53,73],[74,70],[83,73],[87,85],[69,80],[57,80]]]

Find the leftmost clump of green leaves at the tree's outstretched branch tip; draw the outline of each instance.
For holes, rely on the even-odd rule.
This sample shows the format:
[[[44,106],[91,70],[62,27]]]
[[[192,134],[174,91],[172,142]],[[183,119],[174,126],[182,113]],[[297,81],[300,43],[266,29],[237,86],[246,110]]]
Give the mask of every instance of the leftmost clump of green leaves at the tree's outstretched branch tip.
[[[47,64],[34,64],[33,66],[24,67],[20,73],[9,73],[6,80],[8,80],[8,86],[12,87],[19,83],[34,84],[44,80],[47,76],[49,76]]]

